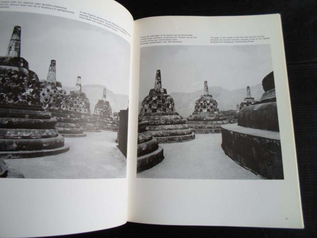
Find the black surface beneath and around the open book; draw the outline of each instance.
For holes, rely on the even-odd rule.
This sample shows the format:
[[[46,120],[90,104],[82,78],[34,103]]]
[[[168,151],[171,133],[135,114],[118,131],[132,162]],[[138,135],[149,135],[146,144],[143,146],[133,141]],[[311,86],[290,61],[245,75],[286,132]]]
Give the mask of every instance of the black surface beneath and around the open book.
[[[65,237],[316,237],[317,1],[117,2],[125,6],[135,20],[167,15],[281,14],[305,229],[162,226],[128,222],[116,228]]]

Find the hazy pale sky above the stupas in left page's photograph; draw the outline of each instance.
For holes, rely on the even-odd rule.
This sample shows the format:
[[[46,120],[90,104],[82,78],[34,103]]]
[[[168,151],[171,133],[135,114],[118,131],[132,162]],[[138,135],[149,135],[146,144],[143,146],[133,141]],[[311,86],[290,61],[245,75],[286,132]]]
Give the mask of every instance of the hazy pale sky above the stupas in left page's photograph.
[[[7,52],[14,26],[21,26],[21,57],[40,80],[51,59],[64,86],[102,84],[114,93],[129,94],[129,43],[112,32],[67,18],[43,14],[0,12],[0,56]]]

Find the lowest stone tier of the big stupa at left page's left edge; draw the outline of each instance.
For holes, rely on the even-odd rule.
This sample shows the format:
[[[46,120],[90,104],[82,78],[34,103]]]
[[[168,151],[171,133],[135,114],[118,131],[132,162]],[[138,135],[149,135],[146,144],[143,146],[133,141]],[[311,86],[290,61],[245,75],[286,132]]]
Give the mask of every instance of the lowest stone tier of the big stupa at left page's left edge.
[[[56,149],[42,149],[42,150],[20,150],[20,151],[0,151],[0,158],[2,159],[22,159],[35,158],[49,155],[58,155],[69,150],[69,145],[65,144],[63,147]]]

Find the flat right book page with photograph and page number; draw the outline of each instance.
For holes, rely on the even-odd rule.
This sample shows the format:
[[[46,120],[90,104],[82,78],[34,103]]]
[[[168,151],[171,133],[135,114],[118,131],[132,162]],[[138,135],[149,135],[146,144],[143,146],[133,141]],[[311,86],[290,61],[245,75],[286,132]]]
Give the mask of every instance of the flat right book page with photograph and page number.
[[[128,221],[303,228],[280,15],[137,20],[133,79]]]

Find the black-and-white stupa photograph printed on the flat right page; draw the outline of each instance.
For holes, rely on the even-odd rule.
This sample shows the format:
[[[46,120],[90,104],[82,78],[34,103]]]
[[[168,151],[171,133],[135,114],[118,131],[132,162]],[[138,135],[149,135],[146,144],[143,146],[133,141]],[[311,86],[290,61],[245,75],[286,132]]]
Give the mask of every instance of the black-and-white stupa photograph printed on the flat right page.
[[[284,179],[269,44],[140,49],[137,178]]]

